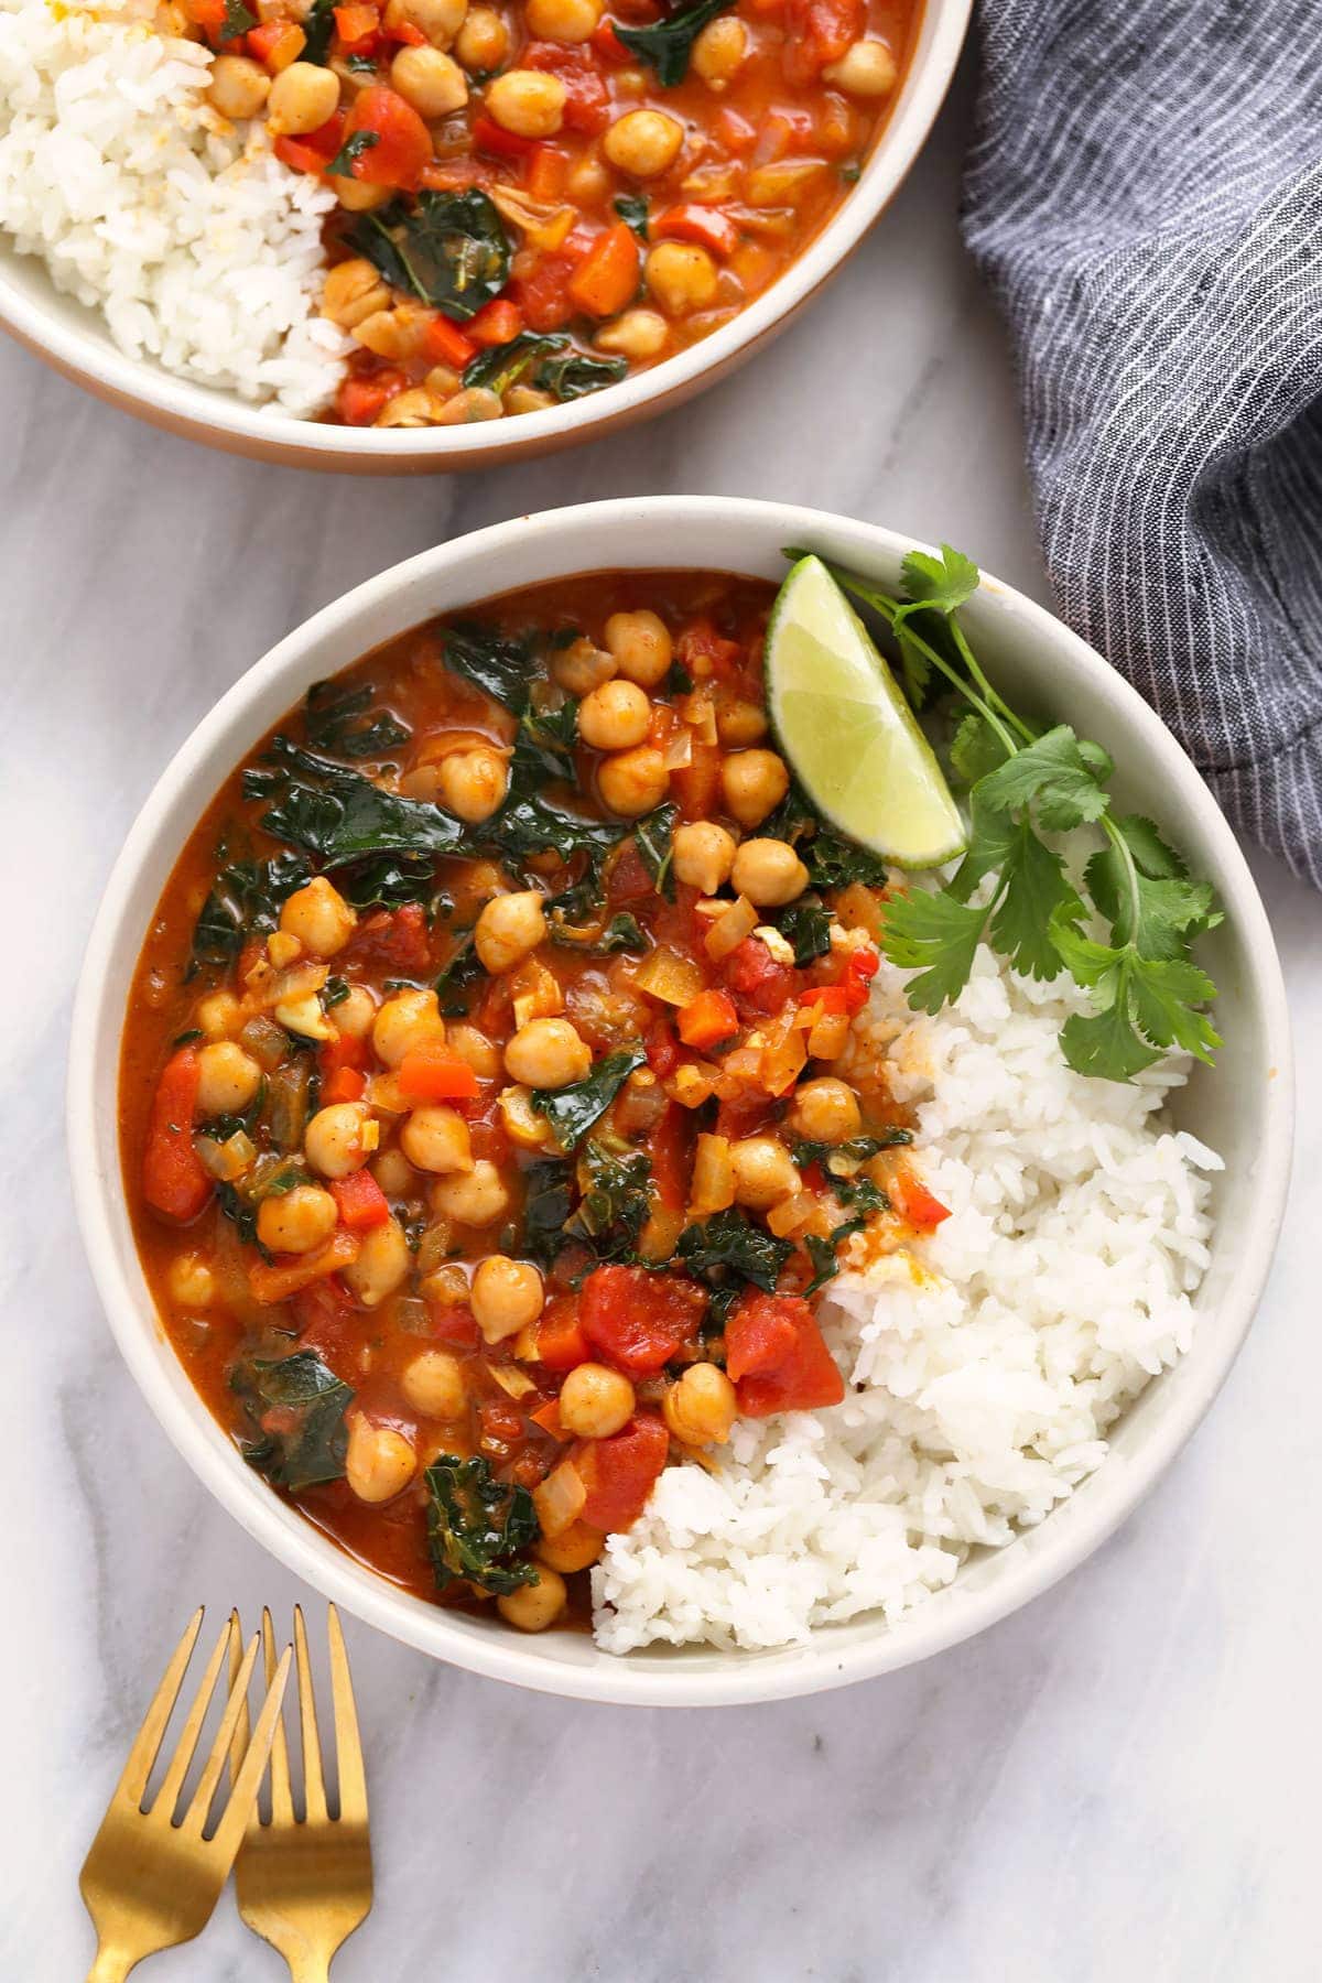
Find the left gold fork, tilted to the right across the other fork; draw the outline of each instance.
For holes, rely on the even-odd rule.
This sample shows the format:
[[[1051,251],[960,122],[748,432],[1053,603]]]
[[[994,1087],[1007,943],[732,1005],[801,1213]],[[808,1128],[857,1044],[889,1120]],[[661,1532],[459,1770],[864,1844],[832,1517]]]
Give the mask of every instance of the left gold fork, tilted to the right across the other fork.
[[[178,1941],[192,1941],[206,1927],[212,1908],[220,1898],[220,1888],[226,1884],[234,1856],[244,1840],[244,1824],[258,1799],[262,1773],[279,1719],[279,1697],[285,1691],[285,1678],[289,1674],[287,1646],[279,1666],[274,1662],[268,1664],[266,1699],[244,1757],[244,1767],[234,1777],[230,1799],[216,1830],[210,1838],[202,1836],[258,1656],[258,1638],[254,1634],[242,1660],[238,1658],[238,1616],[230,1614],[224,1632],[216,1640],[216,1650],[206,1662],[202,1684],[192,1697],[188,1719],[180,1729],[178,1745],[161,1781],[161,1789],[151,1808],[143,1810],[147,1779],[153,1773],[200,1630],[202,1612],[196,1610],[188,1620],[188,1630],[174,1648],[170,1664],[165,1670],[165,1680],[153,1695],[147,1719],[129,1751],[123,1777],[101,1820],[101,1830],[91,1840],[91,1852],[79,1876],[83,1902],[97,1929],[97,1959],[87,1973],[87,1983],[121,1983],[145,1955],[155,1955],[157,1949],[172,1949]],[[198,1735],[202,1733],[202,1721],[206,1719],[226,1650],[230,1652],[232,1678],[226,1709],[198,1787],[182,1820],[176,1824],[174,1807],[184,1787]]]

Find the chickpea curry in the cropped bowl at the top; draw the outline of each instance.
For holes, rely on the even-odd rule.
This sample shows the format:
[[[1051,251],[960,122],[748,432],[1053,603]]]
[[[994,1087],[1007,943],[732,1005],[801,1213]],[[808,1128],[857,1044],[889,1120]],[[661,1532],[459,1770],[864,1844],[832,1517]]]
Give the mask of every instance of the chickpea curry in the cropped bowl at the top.
[[[579,399],[727,323],[858,176],[916,0],[170,0],[329,182],[331,418]]]

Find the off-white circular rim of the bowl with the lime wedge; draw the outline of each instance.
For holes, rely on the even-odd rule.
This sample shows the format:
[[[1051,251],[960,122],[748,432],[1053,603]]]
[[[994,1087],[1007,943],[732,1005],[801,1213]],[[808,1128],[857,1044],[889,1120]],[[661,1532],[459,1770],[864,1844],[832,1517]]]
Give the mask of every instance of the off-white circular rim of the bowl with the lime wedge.
[[[1253,1321],[1274,1255],[1292,1150],[1290,1023],[1272,932],[1245,855],[1229,821],[1171,732],[1142,696],[1062,621],[1013,587],[985,575],[987,591],[997,601],[995,611],[1009,613],[1011,621],[1050,642],[1062,658],[1068,656],[1102,692],[1118,720],[1138,732],[1156,756],[1156,767],[1183,789],[1213,851],[1221,898],[1241,928],[1243,952],[1249,960],[1247,992],[1257,999],[1261,1011],[1267,1065],[1274,1071],[1274,1079],[1267,1087],[1263,1146],[1249,1182],[1251,1216],[1241,1224],[1243,1245],[1221,1299],[1221,1309],[1233,1317],[1233,1327],[1217,1354],[1205,1352],[1199,1366],[1201,1382],[1189,1384],[1157,1416],[1142,1448],[1136,1454],[1126,1454],[1122,1467],[1112,1459],[1116,1471],[1108,1479],[1108,1489],[1086,1507],[1076,1507],[1072,1525],[1060,1541],[1043,1543],[1039,1553],[1019,1549],[1017,1561],[1003,1575],[993,1578],[987,1588],[961,1590],[957,1604],[930,1600],[898,1626],[886,1626],[878,1620],[876,1632],[860,1644],[836,1646],[823,1636],[813,1638],[807,1648],[716,1654],[716,1660],[723,1664],[702,1674],[686,1672],[678,1662],[670,1670],[660,1662],[640,1666],[632,1664],[628,1656],[610,1654],[603,1654],[601,1662],[591,1666],[561,1666],[539,1660],[531,1650],[525,1650],[527,1642],[515,1634],[466,1632],[444,1608],[422,1606],[377,1573],[357,1565],[244,1465],[200,1400],[202,1418],[206,1428],[216,1434],[214,1438],[208,1438],[198,1424],[180,1412],[166,1372],[182,1370],[182,1366],[176,1366],[174,1350],[155,1311],[145,1307],[141,1289],[131,1285],[117,1245],[113,1204],[121,1198],[119,1162],[115,1160],[109,1170],[103,1170],[95,1160],[89,1160],[87,1124],[97,1118],[97,1039],[107,1023],[107,1005],[115,1005],[109,1013],[115,1041],[123,1033],[121,992],[113,999],[109,997],[111,960],[123,942],[125,928],[137,932],[133,952],[137,954],[141,948],[141,936],[157,896],[153,890],[151,900],[143,900],[139,875],[163,835],[161,821],[168,819],[170,809],[184,797],[196,809],[190,793],[204,759],[220,744],[226,744],[226,752],[238,761],[244,750],[256,742],[256,736],[244,734],[246,728],[252,728],[252,704],[285,676],[289,678],[289,694],[297,694],[293,680],[307,674],[311,656],[337,633],[341,623],[383,607],[394,595],[444,573],[452,563],[478,563],[488,553],[501,555],[527,543],[529,535],[535,533],[549,533],[553,539],[563,535],[569,543],[583,545],[581,565],[573,559],[565,561],[567,577],[575,571],[603,569],[601,561],[593,557],[593,545],[599,539],[597,524],[610,516],[634,516],[648,524],[658,543],[670,535],[666,525],[680,518],[686,524],[702,525],[704,537],[710,535],[714,543],[714,569],[737,569],[735,565],[727,567],[723,553],[719,553],[723,525],[757,527],[775,543],[846,533],[892,557],[922,547],[916,545],[914,537],[884,525],[793,504],[737,496],[605,500],[521,516],[454,537],[367,579],[303,621],[256,660],[202,716],[163,769],[125,837],[91,928],[73,999],[65,1124],[69,1172],[93,1283],[143,1396],[174,1448],[222,1507],[287,1569],[392,1638],[492,1680],[573,1699],[632,1705],[749,1705],[866,1680],[971,1638],[1031,1598],[1041,1596],[1076,1569],[1134,1511],[1165,1471],[1221,1390]],[[658,563],[654,569],[662,569],[662,565]],[[313,676],[307,674],[307,678]],[[236,748],[230,750],[230,744]],[[210,799],[210,789],[206,799]],[[161,1342],[166,1344],[165,1356]],[[1100,1479],[1102,1473],[1096,1477]],[[1047,1537],[1048,1529],[1031,1533]],[[1009,1555],[1015,1547],[1009,1545],[997,1557]],[[712,1654],[712,1648],[696,1650]]]

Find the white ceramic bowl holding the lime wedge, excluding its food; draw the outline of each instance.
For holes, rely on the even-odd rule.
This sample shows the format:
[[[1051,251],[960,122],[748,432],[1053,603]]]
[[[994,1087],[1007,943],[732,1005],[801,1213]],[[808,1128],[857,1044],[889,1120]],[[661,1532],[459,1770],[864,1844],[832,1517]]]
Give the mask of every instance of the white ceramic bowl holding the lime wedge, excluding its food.
[[[587,1636],[515,1632],[408,1596],[341,1555],[238,1458],[184,1376],[143,1279],[119,1176],[119,1035],[157,898],[202,805],[315,680],[369,648],[511,587],[581,571],[721,569],[777,579],[781,547],[819,551],[894,587],[910,539],[870,524],[731,498],[589,504],[476,531],[359,585],[244,674],[192,732],[139,813],[87,950],[69,1067],[73,1196],[91,1269],[119,1346],[157,1418],[238,1521],[327,1596],[418,1646],[497,1680],[599,1701],[719,1703],[836,1688],[969,1638],[1037,1596],[1110,1535],[1179,1452],[1249,1329],[1270,1263],[1290,1160],[1290,1035],[1267,916],[1245,859],[1165,726],[1060,621],[987,579],[967,609],[979,652],[1011,702],[1098,738],[1122,765],[1118,797],[1154,813],[1227,912],[1207,940],[1225,1049],[1181,1095],[1181,1124],[1227,1158],[1223,1218],[1197,1309],[1193,1350],[1120,1424],[1102,1469],[1039,1529],[965,1565],[910,1622],[876,1618],[817,1632],[789,1652],[648,1648],[614,1658]],[[971,545],[969,549],[977,549]]]

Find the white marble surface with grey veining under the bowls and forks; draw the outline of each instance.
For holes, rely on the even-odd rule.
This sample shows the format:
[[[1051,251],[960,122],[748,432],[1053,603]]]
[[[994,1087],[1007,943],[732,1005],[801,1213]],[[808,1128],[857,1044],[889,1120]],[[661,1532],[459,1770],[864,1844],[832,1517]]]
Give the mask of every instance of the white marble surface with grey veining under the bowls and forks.
[[[8,966],[0,1979],[83,1975],[77,1866],[188,1608],[315,1594],[174,1456],[71,1231],[69,988],[121,835],[216,694],[422,545],[632,490],[817,502],[1043,593],[1001,337],[955,236],[967,97],[834,292],[719,395],[466,482],[200,452],[0,351]],[[1259,861],[1318,1093],[1322,906]],[[343,1983],[1304,1983],[1320,1973],[1322,1136],[1211,1420],[1098,1559],[924,1668],[817,1701],[593,1709],[349,1622],[379,1902]],[[274,1979],[230,1900],[147,1971]]]

